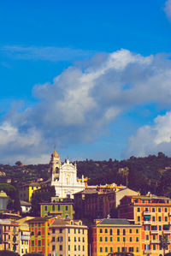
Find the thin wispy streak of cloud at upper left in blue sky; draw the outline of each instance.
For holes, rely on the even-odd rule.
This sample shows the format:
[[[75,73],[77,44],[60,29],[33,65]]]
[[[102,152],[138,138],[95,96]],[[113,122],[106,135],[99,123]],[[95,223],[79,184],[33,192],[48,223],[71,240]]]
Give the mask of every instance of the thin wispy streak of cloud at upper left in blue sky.
[[[80,49],[72,49],[67,47],[37,47],[37,46],[21,46],[6,45],[0,48],[3,54],[9,57],[21,60],[48,60],[48,61],[73,61],[82,57],[90,57],[93,51],[83,51]]]

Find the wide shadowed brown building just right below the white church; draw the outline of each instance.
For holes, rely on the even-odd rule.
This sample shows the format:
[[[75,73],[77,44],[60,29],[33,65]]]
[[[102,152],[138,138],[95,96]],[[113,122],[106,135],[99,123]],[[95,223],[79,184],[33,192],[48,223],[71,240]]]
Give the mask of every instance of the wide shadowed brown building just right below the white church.
[[[75,218],[117,217],[115,211],[124,195],[139,194],[132,189],[117,186],[115,183],[105,186],[88,186],[74,193]]]

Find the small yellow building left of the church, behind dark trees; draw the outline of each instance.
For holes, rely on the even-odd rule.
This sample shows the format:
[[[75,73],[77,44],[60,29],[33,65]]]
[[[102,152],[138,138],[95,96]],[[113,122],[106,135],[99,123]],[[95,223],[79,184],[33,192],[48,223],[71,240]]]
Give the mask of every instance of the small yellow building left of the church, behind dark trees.
[[[19,189],[21,200],[31,202],[32,193],[39,188],[41,188],[41,186],[38,182],[32,182],[22,185]]]

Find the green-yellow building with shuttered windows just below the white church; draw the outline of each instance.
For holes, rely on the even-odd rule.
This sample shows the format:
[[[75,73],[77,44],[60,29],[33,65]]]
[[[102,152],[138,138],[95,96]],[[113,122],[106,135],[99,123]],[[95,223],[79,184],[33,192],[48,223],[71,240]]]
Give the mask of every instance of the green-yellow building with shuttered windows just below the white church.
[[[40,204],[41,217],[60,217],[60,218],[74,218],[74,202],[73,199],[60,199],[56,197],[51,198],[50,203]]]

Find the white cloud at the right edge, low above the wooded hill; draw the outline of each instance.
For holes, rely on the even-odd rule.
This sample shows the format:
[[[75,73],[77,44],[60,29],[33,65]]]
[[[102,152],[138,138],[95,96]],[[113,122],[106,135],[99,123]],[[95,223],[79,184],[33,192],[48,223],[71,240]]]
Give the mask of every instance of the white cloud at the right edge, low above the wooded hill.
[[[170,156],[171,148],[171,111],[157,116],[153,125],[145,125],[128,140],[127,157],[144,157],[148,154],[164,152]]]

